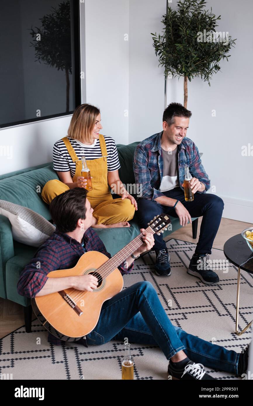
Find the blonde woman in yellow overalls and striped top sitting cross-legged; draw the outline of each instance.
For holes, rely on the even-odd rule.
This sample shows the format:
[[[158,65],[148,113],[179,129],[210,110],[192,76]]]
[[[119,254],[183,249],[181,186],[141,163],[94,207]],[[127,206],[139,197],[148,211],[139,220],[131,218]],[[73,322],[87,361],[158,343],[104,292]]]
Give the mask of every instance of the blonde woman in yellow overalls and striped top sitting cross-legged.
[[[50,204],[54,197],[65,190],[75,187],[84,188],[86,179],[82,177],[81,173],[81,156],[84,153],[80,151],[83,151],[84,147],[97,145],[96,140],[99,140],[99,152],[96,149],[93,153],[94,150],[89,148],[89,156],[97,156],[99,153],[100,158],[86,159],[93,186],[93,190],[88,191],[87,194],[91,207],[94,209],[92,227],[130,227],[128,221],[133,218],[134,212],[137,210],[137,203],[121,183],[118,169],[108,171],[106,141],[104,136],[99,134],[99,130],[103,128],[100,121],[100,111],[95,106],[81,104],[76,108],[69,125],[68,137],[64,137],[54,144],[54,169],[60,180],[48,181],[43,187],[41,196],[46,203]],[[106,139],[107,142],[115,145],[112,138],[106,137]],[[118,162],[119,166],[116,146],[113,151],[113,160]],[[121,198],[112,198],[108,184]]]

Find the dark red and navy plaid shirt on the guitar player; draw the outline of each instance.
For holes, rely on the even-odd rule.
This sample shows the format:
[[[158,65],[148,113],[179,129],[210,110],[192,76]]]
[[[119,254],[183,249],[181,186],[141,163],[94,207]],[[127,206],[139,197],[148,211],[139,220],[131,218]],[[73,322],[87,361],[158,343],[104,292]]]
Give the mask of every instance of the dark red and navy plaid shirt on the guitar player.
[[[73,268],[86,251],[99,251],[106,257],[111,257],[102,240],[92,228],[87,229],[84,233],[83,242],[84,246],[56,229],[51,237],[39,247],[34,258],[21,272],[17,283],[19,295],[34,298],[48,280],[49,272]],[[127,268],[126,261],[124,261],[118,268],[122,275],[129,274],[133,263]],[[48,333],[48,341],[56,345],[63,342],[50,333]]]

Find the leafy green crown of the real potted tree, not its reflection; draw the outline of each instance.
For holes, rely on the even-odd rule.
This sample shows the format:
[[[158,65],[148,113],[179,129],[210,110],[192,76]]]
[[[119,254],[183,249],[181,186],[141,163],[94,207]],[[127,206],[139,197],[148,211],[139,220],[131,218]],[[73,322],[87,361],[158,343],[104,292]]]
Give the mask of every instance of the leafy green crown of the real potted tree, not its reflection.
[[[208,81],[221,67],[221,59],[228,60],[231,46],[235,39],[227,36],[225,42],[198,42],[198,32],[217,32],[216,17],[211,11],[205,9],[204,0],[179,0],[177,10],[168,7],[167,15],[162,16],[164,30],[162,35],[153,36],[153,46],[156,56],[159,57],[159,65],[164,66],[164,76],[171,72],[173,77],[187,76],[191,81],[195,76],[200,76]]]

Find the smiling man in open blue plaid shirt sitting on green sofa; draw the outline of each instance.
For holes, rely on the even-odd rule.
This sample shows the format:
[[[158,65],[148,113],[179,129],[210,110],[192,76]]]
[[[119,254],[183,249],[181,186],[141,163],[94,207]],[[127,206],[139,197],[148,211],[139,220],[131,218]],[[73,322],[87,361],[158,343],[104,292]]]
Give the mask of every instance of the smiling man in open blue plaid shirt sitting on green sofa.
[[[205,173],[199,151],[192,140],[186,138],[192,113],[180,103],[171,103],[163,113],[162,128],[158,134],[141,141],[134,152],[136,184],[142,185],[142,198],[138,199],[138,218],[141,227],[162,212],[179,217],[183,227],[191,217],[203,216],[199,241],[190,260],[188,274],[205,284],[219,281],[218,275],[208,267],[208,254],[221,222],[223,200],[215,194],[206,194],[210,180]],[[190,188],[193,201],[184,198],[184,168],[189,166]],[[155,235],[156,274],[171,274],[170,256],[161,235]]]

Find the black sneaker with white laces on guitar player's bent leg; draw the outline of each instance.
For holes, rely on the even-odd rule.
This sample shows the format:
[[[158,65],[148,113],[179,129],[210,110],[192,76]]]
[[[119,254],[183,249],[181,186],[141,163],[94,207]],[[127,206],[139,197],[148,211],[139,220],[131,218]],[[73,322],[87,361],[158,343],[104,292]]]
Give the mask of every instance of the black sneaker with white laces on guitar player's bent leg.
[[[179,380],[213,380],[212,376],[208,375],[202,364],[195,364],[194,362],[190,361],[184,367],[184,371],[178,371],[173,367],[171,362],[168,365],[168,374],[171,375],[172,379],[179,379]]]

